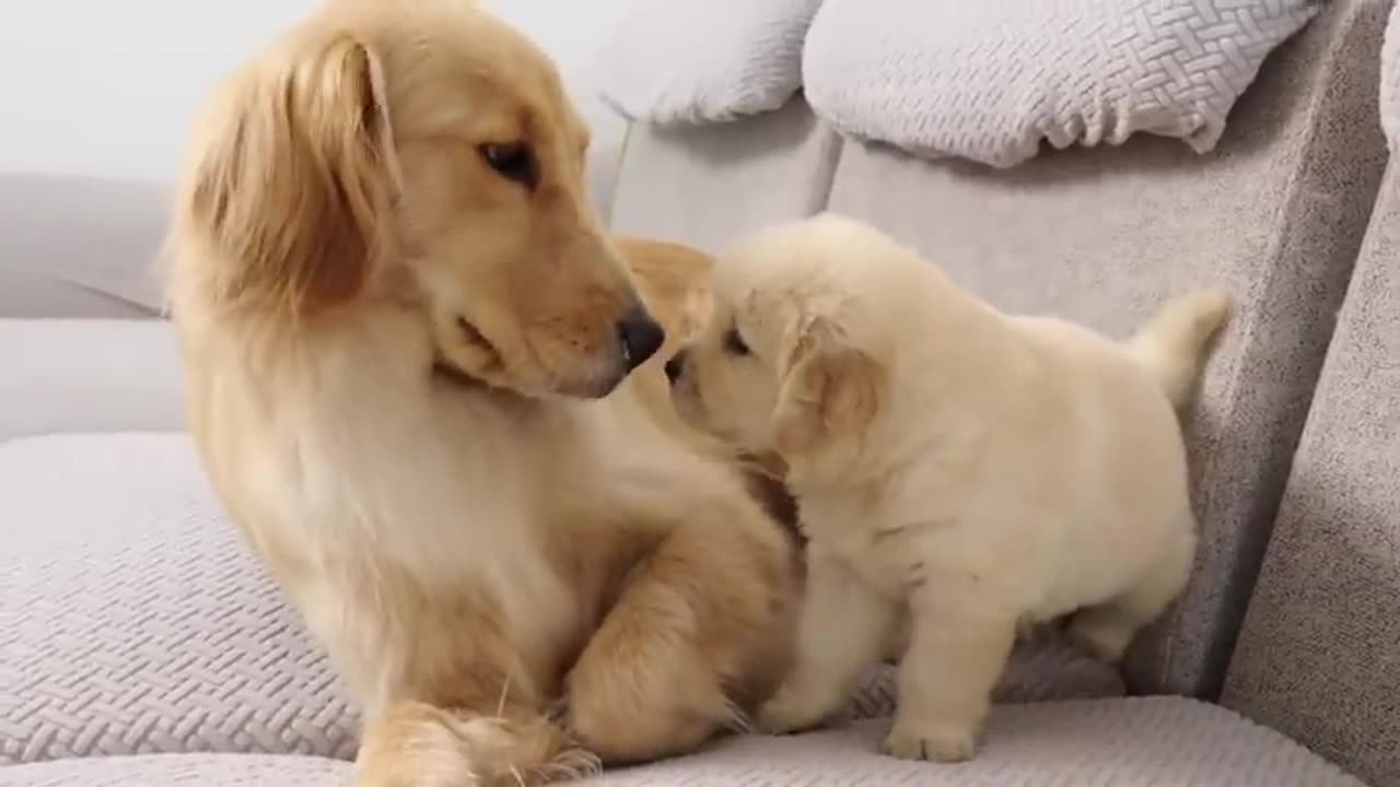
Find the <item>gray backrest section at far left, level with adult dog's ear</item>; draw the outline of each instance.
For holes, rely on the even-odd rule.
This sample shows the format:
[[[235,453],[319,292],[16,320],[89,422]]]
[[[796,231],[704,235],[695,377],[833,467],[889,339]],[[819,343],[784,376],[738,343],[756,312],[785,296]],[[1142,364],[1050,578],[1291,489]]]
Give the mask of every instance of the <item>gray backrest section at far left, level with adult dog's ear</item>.
[[[154,316],[158,183],[0,175],[0,316]]]

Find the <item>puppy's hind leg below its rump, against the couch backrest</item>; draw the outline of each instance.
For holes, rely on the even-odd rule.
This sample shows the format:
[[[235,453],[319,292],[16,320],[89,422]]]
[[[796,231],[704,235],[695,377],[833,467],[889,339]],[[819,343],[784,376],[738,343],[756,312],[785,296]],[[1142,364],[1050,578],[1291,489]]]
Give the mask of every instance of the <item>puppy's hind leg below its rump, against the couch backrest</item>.
[[[1110,664],[1120,661],[1138,630],[1155,620],[1186,587],[1194,557],[1196,535],[1191,528],[1173,538],[1127,591],[1075,612],[1068,627],[1071,641],[1096,658]]]

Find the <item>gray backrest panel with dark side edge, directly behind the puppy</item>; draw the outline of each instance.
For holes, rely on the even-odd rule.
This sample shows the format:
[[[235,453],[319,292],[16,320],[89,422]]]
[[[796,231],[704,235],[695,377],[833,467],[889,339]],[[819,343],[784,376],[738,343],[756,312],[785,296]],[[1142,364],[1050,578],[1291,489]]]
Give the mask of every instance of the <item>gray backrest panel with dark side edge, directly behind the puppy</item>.
[[[1128,662],[1137,689],[1219,690],[1386,150],[1389,0],[1334,0],[1266,64],[1212,155],[1135,137],[1007,171],[847,144],[836,211],[913,244],[1016,312],[1127,335],[1165,297],[1229,287],[1239,312],[1190,426],[1203,549]]]

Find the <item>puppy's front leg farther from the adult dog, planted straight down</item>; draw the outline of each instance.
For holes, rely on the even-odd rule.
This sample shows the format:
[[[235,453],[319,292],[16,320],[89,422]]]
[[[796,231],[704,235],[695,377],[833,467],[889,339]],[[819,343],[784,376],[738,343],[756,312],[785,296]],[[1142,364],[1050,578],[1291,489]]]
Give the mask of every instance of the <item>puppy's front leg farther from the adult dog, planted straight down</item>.
[[[974,580],[969,580],[976,585]],[[1018,615],[977,587],[924,584],[910,597],[899,709],[883,751],[902,759],[972,759],[991,690],[1011,655]]]

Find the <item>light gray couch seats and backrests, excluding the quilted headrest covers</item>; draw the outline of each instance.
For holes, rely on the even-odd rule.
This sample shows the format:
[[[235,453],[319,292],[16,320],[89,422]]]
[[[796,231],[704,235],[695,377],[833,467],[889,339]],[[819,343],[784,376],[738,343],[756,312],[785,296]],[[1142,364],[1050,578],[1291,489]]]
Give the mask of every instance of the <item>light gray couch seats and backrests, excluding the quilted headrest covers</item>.
[[[1204,157],[1140,137],[928,164],[843,141],[801,98],[633,127],[598,179],[620,231],[717,249],[829,207],[1007,309],[1124,335],[1210,280],[1240,311],[1189,424],[1201,553],[1128,658],[1131,696],[1086,679],[1091,699],[1000,704],[977,760],[935,766],[875,753],[876,678],[854,713],[874,718],[596,783],[1400,786],[1389,15],[1333,0]],[[160,186],[0,178],[0,786],[342,784],[354,709],[181,434],[146,276],[162,223]]]

